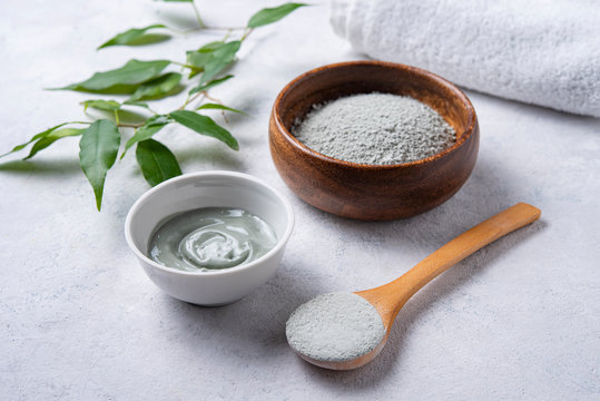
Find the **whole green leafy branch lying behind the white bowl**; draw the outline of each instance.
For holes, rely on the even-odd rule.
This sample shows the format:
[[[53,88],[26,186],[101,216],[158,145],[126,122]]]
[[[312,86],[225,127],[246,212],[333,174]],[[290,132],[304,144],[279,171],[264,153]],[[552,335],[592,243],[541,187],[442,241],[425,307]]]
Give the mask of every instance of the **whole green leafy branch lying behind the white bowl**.
[[[225,38],[212,41],[197,50],[186,51],[184,62],[175,60],[137,60],[131,59],[119,68],[94,74],[90,78],[50,90],[76,90],[89,94],[121,96],[121,100],[89,99],[81,102],[83,113],[94,108],[107,113],[110,118],[98,118],[92,121],[67,121],[36,134],[28,141],[14,146],[0,157],[26,149],[31,145],[23,159],[30,159],[55,141],[80,137],[79,164],[96,197],[98,211],[101,208],[102,194],[108,170],[115,165],[124,131],[134,129],[132,136],[125,143],[120,159],[131,147],[136,147],[136,160],[144,178],[151,186],[181,174],[181,168],[169,148],[153,137],[171,124],[181,125],[199,135],[220,140],[233,150],[239,149],[237,139],[204,110],[220,110],[223,114],[238,113],[213,98],[208,90],[229,81],[233,76],[225,70],[235,62],[242,45],[254,29],[277,22],[304,3],[285,3],[275,8],[262,9],[250,17],[245,27],[220,28],[206,26],[194,0],[163,0],[166,2],[186,2],[191,6],[198,28],[179,32],[164,23],[154,23],[142,28],[131,28],[116,35],[101,43],[97,50],[112,46],[145,46],[170,38],[165,31],[189,35],[204,30],[227,30]],[[229,39],[233,31],[238,31],[238,39]],[[179,71],[168,70],[176,66]],[[184,79],[184,71],[187,77]],[[180,107],[168,113],[159,113],[150,108],[149,101],[175,96],[188,87],[187,96]],[[190,88],[189,88],[190,87]],[[193,106],[195,104],[195,106]],[[142,109],[149,116],[141,123],[124,121],[124,113],[130,108]],[[225,115],[224,115],[225,116]]]

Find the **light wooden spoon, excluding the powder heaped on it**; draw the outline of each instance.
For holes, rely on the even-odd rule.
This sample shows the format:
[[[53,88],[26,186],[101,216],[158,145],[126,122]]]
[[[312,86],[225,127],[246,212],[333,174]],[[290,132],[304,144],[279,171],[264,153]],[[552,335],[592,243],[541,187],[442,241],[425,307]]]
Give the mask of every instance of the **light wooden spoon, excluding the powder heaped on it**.
[[[356,369],[371,362],[385,345],[397,313],[411,296],[452,265],[501,236],[533,223],[540,215],[539,208],[519,203],[459,235],[400,278],[372,290],[355,292],[375,306],[385,327],[382,342],[367,354],[342,362],[319,361],[302,353],[298,355],[317,366],[333,370]]]

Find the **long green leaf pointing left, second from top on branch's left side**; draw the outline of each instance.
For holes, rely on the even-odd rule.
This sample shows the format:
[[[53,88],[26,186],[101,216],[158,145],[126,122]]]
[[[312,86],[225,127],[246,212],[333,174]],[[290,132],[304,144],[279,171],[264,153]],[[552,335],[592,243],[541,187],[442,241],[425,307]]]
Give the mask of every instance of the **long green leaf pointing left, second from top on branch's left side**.
[[[132,59],[121,68],[96,72],[85,81],[57,88],[57,90],[131,94],[140,84],[158,77],[169,63],[169,60],[139,61]]]

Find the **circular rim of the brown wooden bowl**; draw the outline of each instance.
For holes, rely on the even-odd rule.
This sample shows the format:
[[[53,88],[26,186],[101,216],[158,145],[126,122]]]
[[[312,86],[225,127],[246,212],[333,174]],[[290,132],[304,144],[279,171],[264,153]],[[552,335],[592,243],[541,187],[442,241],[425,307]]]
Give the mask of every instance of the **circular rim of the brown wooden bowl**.
[[[377,66],[377,67],[383,67],[383,68],[396,69],[396,70],[400,70],[400,71],[409,70],[409,71],[412,71],[412,72],[415,72],[416,75],[427,77],[429,79],[435,81],[440,86],[446,87],[452,92],[454,92],[454,95],[456,95],[456,97],[459,99],[461,99],[462,106],[468,111],[466,129],[464,130],[463,135],[454,143],[454,145],[445,148],[444,150],[442,150],[440,153],[436,153],[435,155],[432,155],[432,156],[429,156],[429,157],[425,157],[425,158],[422,158],[422,159],[419,159],[419,160],[414,160],[414,162],[393,164],[393,165],[372,165],[372,164],[346,162],[346,160],[337,159],[335,157],[323,155],[323,154],[309,148],[308,146],[304,145],[298,139],[296,139],[296,137],[284,126],[284,124],[282,121],[282,117],[281,117],[282,98],[284,96],[286,96],[291,90],[293,90],[293,88],[296,86],[296,84],[298,84],[299,81],[302,81],[305,78],[308,78],[308,77],[311,77],[311,76],[313,76],[313,75],[315,75],[317,72],[324,71],[324,70],[344,68],[344,67],[351,67],[351,66]],[[340,165],[340,166],[343,166],[343,167],[360,168],[360,169],[374,169],[374,170],[377,170],[377,169],[393,169],[393,168],[407,168],[407,167],[419,166],[419,165],[427,164],[427,163],[431,163],[433,160],[440,159],[440,158],[444,157],[445,155],[450,154],[451,151],[454,151],[455,149],[461,147],[466,141],[466,139],[473,134],[473,131],[475,130],[475,125],[476,125],[475,109],[473,108],[473,105],[471,104],[471,101],[469,100],[466,95],[464,95],[464,92],[461,89],[459,89],[454,84],[450,82],[449,80],[446,80],[446,79],[444,79],[444,78],[442,78],[442,77],[440,77],[440,76],[437,76],[437,75],[435,75],[433,72],[426,71],[426,70],[424,70],[422,68],[412,67],[412,66],[402,65],[402,63],[396,63],[396,62],[374,61],[374,60],[345,61],[345,62],[331,63],[331,65],[317,67],[315,69],[306,71],[303,75],[294,78],[292,81],[289,81],[289,84],[287,84],[282,89],[279,95],[277,95],[277,98],[275,99],[275,104],[273,105],[273,117],[274,117],[275,124],[276,124],[279,133],[283,134],[283,137],[289,144],[292,144],[292,146],[294,146],[296,149],[301,150],[302,153],[306,154],[308,157],[316,157],[316,158],[318,158],[318,159],[321,159],[323,162],[333,163],[333,164],[336,164],[336,165]]]

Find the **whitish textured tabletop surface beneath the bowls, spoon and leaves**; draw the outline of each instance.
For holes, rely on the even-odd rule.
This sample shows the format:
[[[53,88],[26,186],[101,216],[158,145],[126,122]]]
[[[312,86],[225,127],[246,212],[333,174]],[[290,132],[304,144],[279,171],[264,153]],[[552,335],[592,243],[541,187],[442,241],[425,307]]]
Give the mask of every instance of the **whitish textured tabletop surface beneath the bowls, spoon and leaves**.
[[[240,25],[277,1],[198,1],[208,23]],[[43,91],[128,58],[171,58],[218,36],[145,48],[95,48],[158,19],[193,23],[186,4],[146,0],[0,2],[0,151],[68,119],[85,94]],[[269,107],[298,74],[356,59],[325,6],[253,33],[214,95],[234,153],[173,127],[158,139],[185,172],[256,175],[293,202],[297,225],[275,278],[205,309],[163,294],[127,248],[125,216],[148,187],[132,154],[108,175],[104,209],[65,139],[29,163],[0,160],[0,393],[4,400],[598,400],[600,397],[600,120],[468,92],[480,117],[475,170],[424,215],[361,223],[302,203],[267,147]],[[156,108],[169,110],[180,100]],[[24,156],[24,155],[23,155]],[[298,359],[284,324],[322,292],[395,278],[436,247],[517,202],[542,219],[476,253],[415,295],[372,364],[329,372]]]

